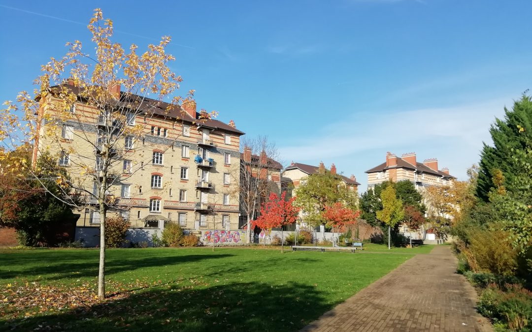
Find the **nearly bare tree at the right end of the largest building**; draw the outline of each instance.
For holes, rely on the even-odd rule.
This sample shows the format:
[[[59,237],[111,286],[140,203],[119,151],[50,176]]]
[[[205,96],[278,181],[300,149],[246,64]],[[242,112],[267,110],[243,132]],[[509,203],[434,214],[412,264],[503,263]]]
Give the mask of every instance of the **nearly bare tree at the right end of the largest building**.
[[[240,181],[232,193],[240,202],[240,210],[246,216],[247,243],[252,236],[251,220],[259,214],[261,203],[271,192],[280,191],[281,164],[276,161],[279,154],[275,144],[267,137],[244,138],[240,142],[240,167],[231,177]]]

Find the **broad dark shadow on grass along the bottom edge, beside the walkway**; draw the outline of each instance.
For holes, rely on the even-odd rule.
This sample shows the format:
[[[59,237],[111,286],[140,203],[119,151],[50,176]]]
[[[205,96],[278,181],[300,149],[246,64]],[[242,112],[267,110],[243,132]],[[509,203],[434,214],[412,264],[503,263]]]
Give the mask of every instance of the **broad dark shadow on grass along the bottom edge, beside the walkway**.
[[[104,304],[0,322],[0,329],[295,331],[336,304],[301,283],[187,285],[146,288]]]

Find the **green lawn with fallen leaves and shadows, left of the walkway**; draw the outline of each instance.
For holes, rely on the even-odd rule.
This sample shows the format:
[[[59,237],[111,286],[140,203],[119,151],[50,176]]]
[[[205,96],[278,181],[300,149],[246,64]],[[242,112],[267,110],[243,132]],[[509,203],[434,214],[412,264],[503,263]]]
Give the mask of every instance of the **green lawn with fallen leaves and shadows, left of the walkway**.
[[[0,330],[298,330],[415,250],[110,249],[105,302],[93,296],[98,250],[3,250]]]

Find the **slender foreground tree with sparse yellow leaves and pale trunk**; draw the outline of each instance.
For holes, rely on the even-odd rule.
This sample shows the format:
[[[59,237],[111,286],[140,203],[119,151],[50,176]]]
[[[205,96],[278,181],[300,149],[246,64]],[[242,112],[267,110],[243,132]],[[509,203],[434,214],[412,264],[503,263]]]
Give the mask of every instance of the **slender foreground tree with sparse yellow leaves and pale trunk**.
[[[98,296],[104,297],[107,212],[127,210],[118,199],[123,196],[120,183],[142,169],[144,163],[161,157],[156,153],[172,146],[167,144],[152,156],[149,144],[160,144],[149,135],[154,129],[148,123],[152,118],[182,122],[183,109],[195,102],[193,90],[185,98],[172,96],[182,79],[169,67],[174,60],[166,52],[170,37],[162,37],[159,44],[148,45],[142,53],[137,45],[125,50],[112,41],[113,22],[104,19],[99,9],[88,29],[95,45],[93,54],[82,49],[78,40],[68,43],[65,56],[52,58],[42,67],[44,73],[36,80],[38,88],[33,96],[23,91],[16,102],[5,103],[6,108],[0,112],[0,141],[31,143],[36,149],[34,156],[51,151],[60,165],[69,166],[71,177],[53,174],[59,194],[48,192],[73,208],[97,211]],[[200,114],[196,125],[215,115],[203,110]],[[149,155],[144,155],[143,149],[150,151]],[[134,163],[124,162],[133,156]],[[30,173],[47,188],[39,180],[38,171],[34,164]]]

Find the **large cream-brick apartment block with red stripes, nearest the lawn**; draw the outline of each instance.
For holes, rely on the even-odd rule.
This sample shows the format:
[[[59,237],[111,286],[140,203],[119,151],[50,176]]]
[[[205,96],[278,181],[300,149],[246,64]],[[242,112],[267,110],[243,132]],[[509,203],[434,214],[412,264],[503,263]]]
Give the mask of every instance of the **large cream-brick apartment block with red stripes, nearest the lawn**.
[[[49,150],[59,156],[59,165],[67,169],[80,187],[95,192],[97,154],[102,144],[99,133],[105,130],[105,114],[85,103],[79,97],[78,87],[66,82],[62,87],[78,95],[78,100],[70,109],[72,116],[61,120],[57,133],[60,143],[49,139],[40,129],[34,162],[41,152]],[[117,96],[123,96],[120,86],[113,89]],[[178,108],[128,96],[134,97],[143,103],[157,103],[157,107],[144,116],[128,114],[123,125],[142,125],[142,135],[126,136],[110,151],[118,159],[112,172],[115,175],[111,176],[120,181],[113,182],[109,193],[117,198],[117,212],[129,219],[131,227],[138,228],[161,228],[161,222],[171,221],[194,231],[238,229],[239,203],[230,193],[239,183],[238,177],[230,174],[239,171],[239,137],[244,132],[236,129],[232,120],[226,124],[196,112],[193,101]],[[57,110],[51,101],[58,96],[52,94],[47,98],[40,100],[38,116],[45,121],[57,121]],[[91,159],[96,165],[87,171],[81,165],[87,165]],[[99,225],[97,211],[84,209],[79,213],[77,226]]]

